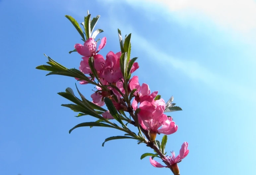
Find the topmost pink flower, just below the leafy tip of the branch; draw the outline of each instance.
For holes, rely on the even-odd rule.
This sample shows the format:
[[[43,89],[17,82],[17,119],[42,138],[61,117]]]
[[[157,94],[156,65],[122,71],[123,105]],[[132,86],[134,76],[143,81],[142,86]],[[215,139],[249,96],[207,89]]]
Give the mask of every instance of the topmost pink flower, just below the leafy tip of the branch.
[[[106,37],[103,37],[101,39],[101,43],[98,47],[98,50],[96,50],[97,43],[94,41],[93,38],[89,38],[88,40],[86,40],[84,45],[75,44],[74,47],[80,55],[83,55],[85,57],[92,57],[92,56],[95,56],[103,47],[105,47],[106,41],[107,41]]]

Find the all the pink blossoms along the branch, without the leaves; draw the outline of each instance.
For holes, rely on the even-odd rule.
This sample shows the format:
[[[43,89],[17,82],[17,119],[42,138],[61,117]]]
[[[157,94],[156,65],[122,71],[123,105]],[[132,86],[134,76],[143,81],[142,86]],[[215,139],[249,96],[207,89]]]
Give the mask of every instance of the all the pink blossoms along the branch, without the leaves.
[[[84,45],[76,44],[76,51],[84,56],[80,63],[80,71],[84,74],[88,74],[88,78],[94,79],[92,77],[93,71],[89,66],[89,58],[94,58],[94,68],[97,72],[97,77],[99,78],[99,86],[96,86],[96,92],[94,92],[91,97],[93,103],[98,106],[104,105],[104,98],[108,97],[112,100],[114,107],[117,110],[127,111],[127,105],[122,98],[122,94],[125,94],[123,87],[123,75],[120,68],[120,56],[121,52],[113,53],[112,51],[108,52],[106,59],[100,54],[97,54],[104,46],[106,45],[106,37],[101,39],[101,43],[97,49],[97,43],[93,38],[88,39]],[[130,73],[133,73],[139,68],[138,63],[134,63]],[[79,80],[78,78],[76,78]],[[81,81],[80,84],[88,84],[85,80]],[[115,88],[112,88],[108,85],[115,85],[122,94],[120,94]],[[134,92],[133,90],[136,89]],[[140,109],[137,116],[138,122],[144,130],[149,131],[150,141],[154,142],[157,134],[173,134],[177,131],[178,126],[175,125],[175,122],[172,120],[172,117],[168,117],[164,114],[165,102],[163,99],[155,100],[158,95],[158,91],[151,93],[149,85],[143,83],[140,85],[138,76],[133,76],[128,83],[128,93],[134,92],[133,102],[131,104],[133,110]],[[112,98],[115,96],[116,98]],[[115,99],[115,100],[114,100]],[[117,99],[117,100],[116,100]],[[107,119],[114,119],[109,111],[102,113],[102,116]],[[188,143],[184,142],[180,154],[175,157],[175,153],[172,152],[172,156],[166,157],[166,162],[172,166],[173,171],[178,171],[177,163],[181,161],[188,154],[189,150],[187,149]],[[157,161],[150,158],[150,162],[155,167],[166,167],[158,163]]]

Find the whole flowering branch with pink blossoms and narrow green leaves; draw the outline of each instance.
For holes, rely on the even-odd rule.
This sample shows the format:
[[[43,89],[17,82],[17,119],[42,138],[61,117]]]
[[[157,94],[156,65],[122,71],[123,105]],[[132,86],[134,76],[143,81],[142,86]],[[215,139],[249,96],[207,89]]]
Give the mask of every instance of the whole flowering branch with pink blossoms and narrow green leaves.
[[[155,153],[144,153],[141,159],[146,156],[150,157],[150,163],[155,167],[167,167],[174,175],[179,175],[179,163],[189,153],[188,143],[184,142],[180,149],[180,154],[175,156],[171,152],[171,156],[167,156],[165,145],[167,135],[177,131],[178,126],[172,120],[171,116],[167,116],[164,112],[172,112],[182,110],[175,106],[173,97],[165,104],[164,100],[158,95],[158,91],[150,92],[149,86],[146,83],[139,84],[138,76],[131,74],[139,68],[139,64],[135,62],[137,57],[130,59],[131,55],[131,34],[122,39],[121,31],[118,29],[120,52],[108,52],[106,59],[99,53],[106,45],[106,37],[96,40],[96,36],[103,32],[101,29],[96,29],[95,25],[99,19],[99,15],[91,20],[91,14],[85,17],[85,21],[81,23],[85,32],[81,29],[78,22],[71,16],[67,16],[68,20],[75,26],[76,30],[82,37],[84,44],[75,44],[74,50],[69,53],[77,52],[82,55],[82,61],[79,70],[72,68],[68,69],[65,66],[48,58],[48,65],[37,66],[37,69],[47,70],[50,73],[46,75],[64,75],[74,77],[80,81],[80,84],[96,85],[96,91],[91,95],[92,102],[87,100],[78,87],[77,91],[80,98],[76,97],[71,88],[67,88],[65,92],[58,93],[62,97],[70,100],[74,104],[63,104],[75,112],[79,112],[77,117],[91,115],[98,120],[92,122],[84,122],[74,126],[69,130],[71,133],[78,127],[109,127],[125,132],[124,136],[112,136],[106,138],[102,143],[115,139],[135,139],[138,144],[145,143],[152,148]],[[107,109],[102,108],[106,105]],[[126,116],[130,115],[130,118]],[[118,122],[111,122],[114,120]],[[127,122],[124,124],[124,121]],[[127,124],[130,123],[138,128],[138,135],[132,132]],[[162,141],[156,140],[157,134],[164,134]],[[154,157],[159,157],[166,166],[161,165]]]

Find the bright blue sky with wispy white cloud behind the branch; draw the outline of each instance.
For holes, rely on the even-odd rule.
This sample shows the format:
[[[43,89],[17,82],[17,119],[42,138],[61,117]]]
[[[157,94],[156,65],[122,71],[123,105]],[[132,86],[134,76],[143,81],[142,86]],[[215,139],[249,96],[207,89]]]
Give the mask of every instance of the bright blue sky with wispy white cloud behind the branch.
[[[68,54],[80,36],[64,17],[78,22],[89,9],[101,15],[106,47],[119,51],[117,28],[132,33],[134,73],[183,111],[169,113],[179,129],[166,150],[190,153],[182,175],[255,174],[256,2],[154,0],[0,0],[0,175],[98,175],[170,173],[140,155],[151,150],[133,140],[101,147],[122,133],[105,128],[68,130],[93,118],[76,118],[57,95],[75,88],[69,77],[47,76],[35,67],[43,53],[67,67],[81,56]],[[87,98],[93,86],[79,85]],[[160,136],[158,136],[160,138]]]

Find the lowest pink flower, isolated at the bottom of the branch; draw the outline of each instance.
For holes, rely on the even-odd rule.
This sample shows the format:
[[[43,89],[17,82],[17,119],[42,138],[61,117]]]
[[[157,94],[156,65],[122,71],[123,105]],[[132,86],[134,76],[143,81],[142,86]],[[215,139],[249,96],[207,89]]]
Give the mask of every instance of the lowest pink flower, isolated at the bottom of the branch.
[[[183,158],[185,158],[188,155],[188,153],[189,153],[188,143],[184,142],[181,146],[179,155],[177,157],[175,157],[174,152],[171,152],[172,155],[170,157],[166,156],[165,161],[170,163],[170,167],[172,168],[175,175],[179,175],[179,167],[177,163],[179,163]],[[151,157],[149,158],[149,160],[150,160],[150,163],[157,168],[167,167],[167,166],[161,165],[159,162],[157,162],[156,160],[153,160]]]

